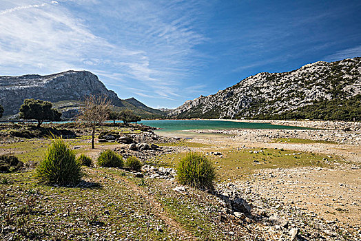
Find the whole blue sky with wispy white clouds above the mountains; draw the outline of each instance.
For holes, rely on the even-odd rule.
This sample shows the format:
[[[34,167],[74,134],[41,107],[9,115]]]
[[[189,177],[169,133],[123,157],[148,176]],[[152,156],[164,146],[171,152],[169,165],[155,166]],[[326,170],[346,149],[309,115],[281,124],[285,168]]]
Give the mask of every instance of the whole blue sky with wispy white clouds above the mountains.
[[[87,70],[174,108],[259,72],[361,56],[361,1],[0,0],[0,76]]]

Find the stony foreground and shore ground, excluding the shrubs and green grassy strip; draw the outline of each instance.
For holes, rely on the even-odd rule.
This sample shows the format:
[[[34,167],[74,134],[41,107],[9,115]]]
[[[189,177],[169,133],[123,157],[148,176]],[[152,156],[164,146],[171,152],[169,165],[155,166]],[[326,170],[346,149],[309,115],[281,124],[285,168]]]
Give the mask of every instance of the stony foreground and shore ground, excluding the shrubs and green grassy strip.
[[[358,132],[217,132],[227,135],[198,133],[186,141],[153,132],[109,133],[97,139],[96,149],[89,148],[87,138],[69,140],[93,160],[103,149],[114,149],[147,165],[138,172],[85,168],[87,176],[77,187],[41,187],[32,181],[31,171],[0,174],[0,235],[5,240],[146,240],[147,235],[147,240],[361,239]],[[26,144],[21,141],[15,144]],[[31,145],[43,148],[41,140]],[[239,180],[216,182],[212,191],[178,185],[176,171],[159,163],[187,151],[207,151],[222,160],[229,149],[249,152],[255,147],[312,151],[332,155],[332,162],[327,167],[258,169]]]

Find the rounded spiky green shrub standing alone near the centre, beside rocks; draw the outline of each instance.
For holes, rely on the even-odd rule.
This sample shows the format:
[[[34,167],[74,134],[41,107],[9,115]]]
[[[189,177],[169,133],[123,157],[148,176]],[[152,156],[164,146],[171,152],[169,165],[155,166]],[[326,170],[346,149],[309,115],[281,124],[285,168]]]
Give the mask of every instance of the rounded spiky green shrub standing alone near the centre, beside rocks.
[[[205,156],[190,152],[180,160],[176,178],[181,185],[207,189],[213,187],[216,171]]]

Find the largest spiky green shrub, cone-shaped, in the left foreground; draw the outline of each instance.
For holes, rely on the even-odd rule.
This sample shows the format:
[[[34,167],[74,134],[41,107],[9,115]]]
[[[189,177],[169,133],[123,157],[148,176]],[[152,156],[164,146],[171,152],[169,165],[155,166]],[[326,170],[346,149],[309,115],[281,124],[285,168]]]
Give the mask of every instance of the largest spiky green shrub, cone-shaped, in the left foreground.
[[[75,153],[62,138],[54,138],[45,158],[35,170],[35,177],[45,185],[68,185],[81,180],[81,165],[75,160]]]

